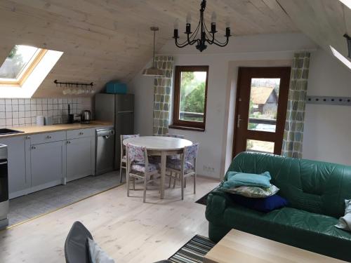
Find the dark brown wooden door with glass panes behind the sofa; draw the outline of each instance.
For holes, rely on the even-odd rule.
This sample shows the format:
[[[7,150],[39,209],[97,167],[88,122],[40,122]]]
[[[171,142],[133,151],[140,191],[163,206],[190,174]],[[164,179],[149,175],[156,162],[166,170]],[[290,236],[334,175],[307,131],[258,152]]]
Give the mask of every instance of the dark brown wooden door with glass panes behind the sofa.
[[[281,154],[290,67],[241,67],[237,88],[234,155]]]

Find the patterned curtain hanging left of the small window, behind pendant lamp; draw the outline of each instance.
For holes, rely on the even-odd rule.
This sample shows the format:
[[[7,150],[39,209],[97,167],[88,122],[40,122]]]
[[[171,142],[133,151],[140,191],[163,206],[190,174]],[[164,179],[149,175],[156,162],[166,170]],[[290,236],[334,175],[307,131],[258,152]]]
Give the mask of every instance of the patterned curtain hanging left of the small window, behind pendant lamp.
[[[159,55],[155,64],[164,71],[164,76],[154,78],[154,135],[168,133],[169,103],[173,73],[173,57]]]

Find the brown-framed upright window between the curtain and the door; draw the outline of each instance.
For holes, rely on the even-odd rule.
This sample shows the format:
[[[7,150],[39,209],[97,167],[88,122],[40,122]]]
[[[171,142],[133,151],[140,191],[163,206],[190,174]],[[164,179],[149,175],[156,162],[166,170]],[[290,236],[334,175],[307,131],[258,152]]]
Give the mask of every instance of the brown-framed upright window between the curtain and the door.
[[[204,130],[208,66],[177,66],[171,128]]]

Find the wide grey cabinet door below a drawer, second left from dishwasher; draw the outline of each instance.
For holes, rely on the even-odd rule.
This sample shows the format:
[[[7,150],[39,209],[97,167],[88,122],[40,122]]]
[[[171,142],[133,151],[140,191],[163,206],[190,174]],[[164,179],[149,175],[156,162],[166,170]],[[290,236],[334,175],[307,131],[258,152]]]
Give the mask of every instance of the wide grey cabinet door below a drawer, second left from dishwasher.
[[[66,151],[64,141],[33,144],[30,148],[31,191],[65,182]]]

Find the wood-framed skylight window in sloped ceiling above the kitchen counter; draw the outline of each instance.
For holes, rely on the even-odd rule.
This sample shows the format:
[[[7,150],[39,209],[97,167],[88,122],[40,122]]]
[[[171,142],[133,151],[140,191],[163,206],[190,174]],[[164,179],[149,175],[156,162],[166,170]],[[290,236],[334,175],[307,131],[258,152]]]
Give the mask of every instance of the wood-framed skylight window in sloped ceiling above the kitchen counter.
[[[14,46],[0,67],[0,83],[21,85],[45,53],[34,46]]]

